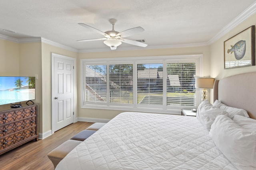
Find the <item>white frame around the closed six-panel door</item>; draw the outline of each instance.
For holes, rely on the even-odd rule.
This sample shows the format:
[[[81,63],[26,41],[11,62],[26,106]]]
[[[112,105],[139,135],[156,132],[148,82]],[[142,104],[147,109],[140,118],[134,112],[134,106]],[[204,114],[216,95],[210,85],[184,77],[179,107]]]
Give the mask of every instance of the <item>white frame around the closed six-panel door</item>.
[[[68,59],[68,60],[72,60],[74,62],[74,75],[73,75],[73,110],[74,110],[74,115],[73,115],[73,123],[75,122],[76,119],[76,59],[72,58],[72,57],[68,57],[65,55],[60,55],[60,54],[56,54],[56,53],[51,53],[52,55],[52,134],[54,134],[54,59],[55,57],[58,58],[62,58],[62,59]]]

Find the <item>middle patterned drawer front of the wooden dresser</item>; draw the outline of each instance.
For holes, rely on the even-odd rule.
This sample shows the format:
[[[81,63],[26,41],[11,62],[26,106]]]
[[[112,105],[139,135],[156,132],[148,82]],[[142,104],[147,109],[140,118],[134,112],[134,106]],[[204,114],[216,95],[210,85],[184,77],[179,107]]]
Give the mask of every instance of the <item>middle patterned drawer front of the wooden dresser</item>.
[[[9,123],[0,127],[0,137],[10,135],[20,130],[36,125],[36,116],[17,121],[15,123]]]

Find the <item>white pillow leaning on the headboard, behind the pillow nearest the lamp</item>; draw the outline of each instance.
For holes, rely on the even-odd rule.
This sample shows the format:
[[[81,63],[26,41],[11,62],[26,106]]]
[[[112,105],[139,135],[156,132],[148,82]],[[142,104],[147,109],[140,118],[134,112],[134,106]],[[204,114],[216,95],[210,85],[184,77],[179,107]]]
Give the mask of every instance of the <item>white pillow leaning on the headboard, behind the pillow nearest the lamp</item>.
[[[230,117],[231,119],[233,119],[234,115],[241,115],[244,117],[249,117],[246,110],[227,106],[226,104],[223,104],[218,100],[215,100],[213,106],[218,107],[218,108],[228,112],[228,117]]]

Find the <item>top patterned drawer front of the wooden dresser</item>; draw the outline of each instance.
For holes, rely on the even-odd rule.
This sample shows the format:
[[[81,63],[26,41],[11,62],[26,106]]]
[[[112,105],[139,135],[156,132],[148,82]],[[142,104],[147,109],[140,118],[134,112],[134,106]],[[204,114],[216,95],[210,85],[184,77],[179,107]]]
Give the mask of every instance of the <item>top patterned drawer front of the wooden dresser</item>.
[[[36,115],[36,107],[28,107],[0,114],[0,125]]]

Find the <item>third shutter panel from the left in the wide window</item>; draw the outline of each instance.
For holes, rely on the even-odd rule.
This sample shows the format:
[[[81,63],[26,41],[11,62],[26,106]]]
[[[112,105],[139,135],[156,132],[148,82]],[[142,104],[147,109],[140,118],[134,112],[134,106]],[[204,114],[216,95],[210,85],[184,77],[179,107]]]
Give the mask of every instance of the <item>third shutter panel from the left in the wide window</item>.
[[[163,64],[137,64],[137,104],[163,105]]]

